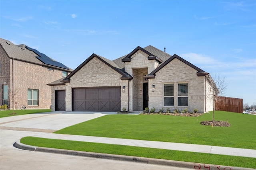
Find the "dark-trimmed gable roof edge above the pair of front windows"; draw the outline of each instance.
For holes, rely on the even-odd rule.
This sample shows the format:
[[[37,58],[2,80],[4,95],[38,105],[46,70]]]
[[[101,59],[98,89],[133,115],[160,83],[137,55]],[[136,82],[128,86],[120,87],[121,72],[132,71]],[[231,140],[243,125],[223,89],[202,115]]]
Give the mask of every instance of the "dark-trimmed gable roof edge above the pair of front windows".
[[[208,75],[208,72],[205,72],[204,70],[198,68],[197,66],[195,66],[194,64],[189,63],[188,61],[182,59],[180,56],[174,54],[172,57],[170,57],[168,60],[166,60],[164,63],[162,63],[160,66],[158,66],[155,70],[153,70],[152,72],[150,72],[150,74],[148,74],[147,76],[144,76],[145,78],[154,78],[156,72],[158,72],[159,70],[161,70],[164,66],[166,66],[166,64],[170,63],[173,59],[178,59],[180,61],[182,61],[183,63],[187,64],[188,66],[194,68],[195,70],[197,70],[197,75],[198,76],[205,76]]]

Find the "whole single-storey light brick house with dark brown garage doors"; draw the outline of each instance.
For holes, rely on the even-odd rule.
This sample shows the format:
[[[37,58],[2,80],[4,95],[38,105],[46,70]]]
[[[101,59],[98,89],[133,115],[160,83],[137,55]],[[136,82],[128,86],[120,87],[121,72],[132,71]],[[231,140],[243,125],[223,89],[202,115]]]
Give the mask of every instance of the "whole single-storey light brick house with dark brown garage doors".
[[[52,110],[171,111],[213,109],[208,97],[215,85],[210,74],[178,55],[151,45],[110,61],[92,54],[66,78],[52,86]]]

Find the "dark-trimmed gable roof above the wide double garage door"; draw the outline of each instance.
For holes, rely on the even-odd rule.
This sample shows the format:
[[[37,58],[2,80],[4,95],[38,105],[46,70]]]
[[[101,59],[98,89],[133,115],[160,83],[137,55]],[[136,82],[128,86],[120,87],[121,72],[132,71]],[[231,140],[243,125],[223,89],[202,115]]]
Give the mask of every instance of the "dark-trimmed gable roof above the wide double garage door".
[[[122,75],[121,80],[130,80],[130,79],[132,79],[132,76],[130,74],[126,73],[124,70],[119,68],[118,65],[116,63],[114,63],[113,61],[108,60],[104,57],[101,57],[101,56],[96,55],[96,54],[93,53],[88,59],[86,59],[86,61],[84,61],[82,64],[80,64],[73,72],[71,72],[68,76],[66,76],[66,78],[64,78],[64,80],[62,80],[61,82],[70,82],[70,77],[72,77],[74,74],[76,74],[76,72],[78,72],[78,70],[80,70],[83,66],[85,66],[94,57],[96,57],[97,59],[99,59],[100,61],[105,63],[106,65],[110,66],[116,72],[121,74]]]

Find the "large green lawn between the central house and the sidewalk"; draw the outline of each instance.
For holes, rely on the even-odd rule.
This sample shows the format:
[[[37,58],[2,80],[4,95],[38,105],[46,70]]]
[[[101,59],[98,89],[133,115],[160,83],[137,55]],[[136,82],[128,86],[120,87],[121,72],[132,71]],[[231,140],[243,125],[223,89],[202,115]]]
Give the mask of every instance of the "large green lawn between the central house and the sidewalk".
[[[200,125],[211,119],[212,113],[199,117],[106,115],[54,133],[256,149],[256,115],[215,111],[215,120],[228,120],[231,126]]]

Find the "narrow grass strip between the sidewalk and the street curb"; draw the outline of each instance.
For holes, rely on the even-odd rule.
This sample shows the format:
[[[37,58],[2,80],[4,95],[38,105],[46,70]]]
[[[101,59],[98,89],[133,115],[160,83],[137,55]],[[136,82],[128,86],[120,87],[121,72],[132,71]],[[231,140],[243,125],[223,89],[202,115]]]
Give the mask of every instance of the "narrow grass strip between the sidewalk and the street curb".
[[[47,147],[56,149],[78,150],[86,152],[117,154],[126,156],[138,156],[145,158],[158,158],[166,160],[178,160],[203,164],[216,164],[223,166],[236,166],[244,168],[256,168],[256,158],[241,156],[228,156],[219,154],[206,154],[198,152],[186,152],[178,150],[153,149],[146,147],[132,147],[125,145],[112,145],[103,143],[90,143],[80,141],[67,141],[58,139],[46,139],[38,137],[24,137],[21,143],[35,147]]]

